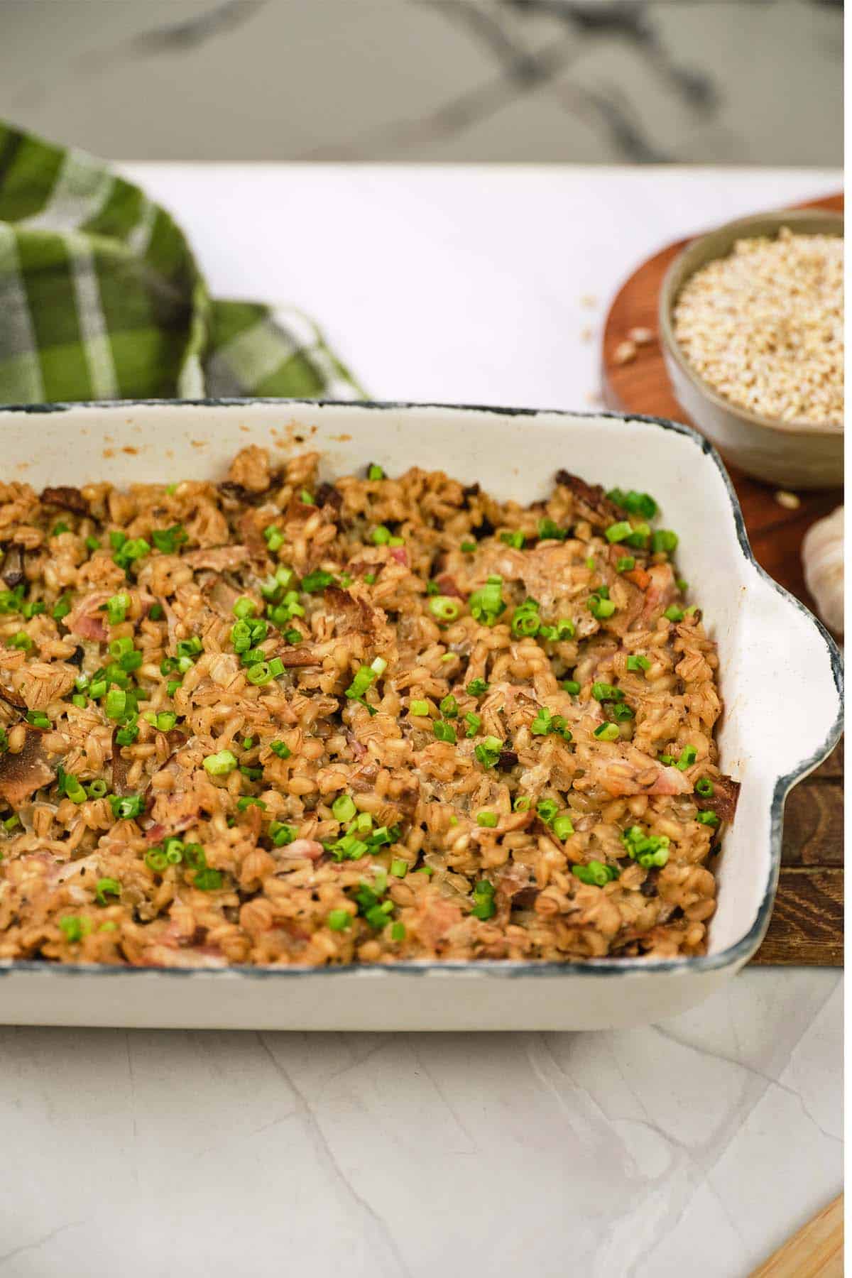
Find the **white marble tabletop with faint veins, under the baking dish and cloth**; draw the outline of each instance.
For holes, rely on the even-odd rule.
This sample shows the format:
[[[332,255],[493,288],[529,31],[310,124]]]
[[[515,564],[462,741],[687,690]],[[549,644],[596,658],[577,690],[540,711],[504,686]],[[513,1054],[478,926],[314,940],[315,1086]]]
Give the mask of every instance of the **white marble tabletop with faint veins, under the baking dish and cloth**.
[[[581,330],[635,261],[839,183],[126,167],[374,395],[551,406],[594,394]],[[841,1189],[841,1066],[819,969],[605,1034],[0,1030],[0,1275],[746,1278]]]

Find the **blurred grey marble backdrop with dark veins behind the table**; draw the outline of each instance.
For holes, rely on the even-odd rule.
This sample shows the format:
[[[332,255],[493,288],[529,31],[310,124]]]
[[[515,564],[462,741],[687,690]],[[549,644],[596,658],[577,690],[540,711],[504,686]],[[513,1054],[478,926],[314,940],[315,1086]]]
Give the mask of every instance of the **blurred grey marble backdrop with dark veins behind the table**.
[[[0,86],[111,158],[839,165],[842,0],[0,0]]]

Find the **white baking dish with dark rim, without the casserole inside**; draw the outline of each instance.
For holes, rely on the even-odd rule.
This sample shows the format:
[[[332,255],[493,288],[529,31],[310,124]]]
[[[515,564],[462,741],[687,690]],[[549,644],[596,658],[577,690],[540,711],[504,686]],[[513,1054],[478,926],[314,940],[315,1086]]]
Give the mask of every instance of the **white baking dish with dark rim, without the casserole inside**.
[[[442,468],[530,501],[565,466],[654,493],[719,644],[722,766],[742,782],[724,837],[710,951],[668,961],[411,964],[161,970],[11,962],[0,1021],[24,1025],[316,1030],[604,1029],[699,1003],[749,960],[769,921],[784,799],[841,734],[838,651],[755,564],[715,450],[671,422],[604,414],[281,400],[0,410],[4,479],[36,488],[218,479],[247,443],[323,454],[327,475],[367,461]]]

